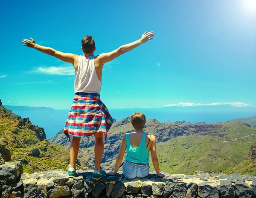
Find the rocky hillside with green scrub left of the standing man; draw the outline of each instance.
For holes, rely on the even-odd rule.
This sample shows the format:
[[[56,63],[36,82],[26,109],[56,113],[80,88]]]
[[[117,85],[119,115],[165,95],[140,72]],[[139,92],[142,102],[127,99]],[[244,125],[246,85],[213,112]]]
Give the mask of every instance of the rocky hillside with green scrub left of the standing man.
[[[67,147],[50,144],[42,127],[33,125],[29,118],[21,119],[3,107],[0,100],[1,156],[5,161],[21,161],[24,171],[29,173],[66,169],[70,162]]]

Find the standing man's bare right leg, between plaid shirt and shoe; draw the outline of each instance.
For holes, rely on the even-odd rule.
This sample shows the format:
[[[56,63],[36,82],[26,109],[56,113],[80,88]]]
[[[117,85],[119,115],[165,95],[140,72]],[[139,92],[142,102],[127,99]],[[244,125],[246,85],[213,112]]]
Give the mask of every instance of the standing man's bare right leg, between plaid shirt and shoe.
[[[98,132],[94,134],[95,146],[94,146],[94,158],[95,158],[95,170],[100,171],[100,164],[102,161],[102,156],[104,152],[104,134]]]

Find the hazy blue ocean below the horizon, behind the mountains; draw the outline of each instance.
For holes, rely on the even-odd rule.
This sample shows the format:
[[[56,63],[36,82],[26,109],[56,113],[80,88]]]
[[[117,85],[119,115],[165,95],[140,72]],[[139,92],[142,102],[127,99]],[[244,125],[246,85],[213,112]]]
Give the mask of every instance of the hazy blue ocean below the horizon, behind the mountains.
[[[44,127],[47,139],[55,136],[64,128],[69,109],[53,110],[46,107],[7,106],[13,113],[22,118],[29,117],[34,125]],[[146,119],[157,119],[159,122],[187,121],[191,123],[226,122],[236,118],[256,116],[255,107],[204,106],[204,107],[164,107],[164,108],[109,108],[111,116],[117,121],[142,112]]]

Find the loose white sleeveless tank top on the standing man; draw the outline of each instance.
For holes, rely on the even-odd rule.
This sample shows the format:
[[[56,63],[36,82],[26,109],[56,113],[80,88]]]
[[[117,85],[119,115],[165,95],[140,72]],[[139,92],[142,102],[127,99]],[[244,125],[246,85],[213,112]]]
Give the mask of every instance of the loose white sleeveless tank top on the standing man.
[[[84,56],[79,56],[75,76],[75,93],[99,93],[102,84],[96,74],[94,65],[94,56],[88,59]]]

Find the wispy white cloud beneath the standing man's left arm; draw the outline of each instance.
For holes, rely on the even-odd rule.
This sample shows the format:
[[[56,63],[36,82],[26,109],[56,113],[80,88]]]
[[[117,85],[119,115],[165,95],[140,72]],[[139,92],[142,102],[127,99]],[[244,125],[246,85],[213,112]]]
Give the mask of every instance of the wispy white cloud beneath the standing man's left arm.
[[[30,71],[32,73],[50,74],[50,75],[75,75],[75,69],[73,66],[40,66]],[[50,81],[49,81],[50,82]]]

